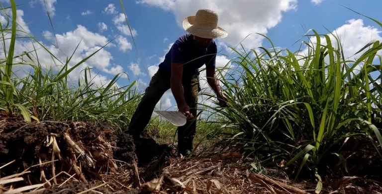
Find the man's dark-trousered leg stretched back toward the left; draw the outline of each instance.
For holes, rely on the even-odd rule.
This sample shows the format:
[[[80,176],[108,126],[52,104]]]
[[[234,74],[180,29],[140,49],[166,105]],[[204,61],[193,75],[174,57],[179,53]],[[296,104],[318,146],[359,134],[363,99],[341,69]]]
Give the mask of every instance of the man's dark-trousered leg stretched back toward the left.
[[[150,84],[146,88],[145,94],[139,102],[127,129],[127,132],[133,135],[134,138],[139,137],[146,128],[150,122],[155,105],[163,94],[170,89],[170,75],[170,73],[157,71],[151,78]]]

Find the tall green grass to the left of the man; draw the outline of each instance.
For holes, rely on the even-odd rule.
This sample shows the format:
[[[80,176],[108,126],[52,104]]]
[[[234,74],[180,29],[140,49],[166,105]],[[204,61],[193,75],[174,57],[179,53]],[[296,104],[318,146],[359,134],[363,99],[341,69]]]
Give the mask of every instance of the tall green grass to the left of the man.
[[[16,4],[14,0],[10,0],[10,3],[11,7],[1,9],[6,19],[11,22],[1,24],[0,29],[3,57],[5,57],[0,59],[0,110],[10,117],[22,114],[24,120],[28,122],[32,120],[107,120],[120,128],[128,125],[129,118],[141,97],[134,88],[136,81],[126,86],[118,86],[116,81],[122,74],[119,73],[108,83],[96,85],[92,80],[90,68],[82,69],[83,76],[80,75],[77,81],[71,80],[69,76],[108,43],[78,63],[71,61],[76,50],[65,62],[61,62],[42,43],[17,28]],[[12,10],[11,15],[6,15],[7,9]],[[59,62],[57,63],[59,65],[44,68],[47,65],[41,64],[37,49],[15,54],[14,47],[17,39],[31,41],[34,48],[40,47],[44,52],[49,53],[52,60]],[[9,45],[7,45],[8,42]],[[12,70],[15,65],[26,67],[24,69],[30,69],[30,71],[25,77],[17,77]]]

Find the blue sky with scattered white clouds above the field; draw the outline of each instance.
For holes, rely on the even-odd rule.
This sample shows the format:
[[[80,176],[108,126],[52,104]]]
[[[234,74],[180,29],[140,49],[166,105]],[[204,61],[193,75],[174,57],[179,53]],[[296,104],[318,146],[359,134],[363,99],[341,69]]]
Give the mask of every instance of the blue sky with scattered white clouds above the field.
[[[10,5],[9,0],[0,2],[4,7]],[[199,8],[210,8],[219,14],[219,26],[229,34],[227,38],[216,40],[218,52],[222,54],[229,53],[227,47],[235,47],[241,41],[245,49],[271,46],[264,37],[254,33],[266,35],[276,47],[295,51],[300,44],[293,43],[308,29],[321,34],[328,34],[329,29],[341,37],[349,57],[368,42],[382,40],[381,26],[343,7],[382,21],[381,0],[365,0],[364,3],[359,0],[122,0],[123,8],[120,0],[15,2],[20,4],[17,7],[18,29],[34,36],[62,63],[72,56],[77,46],[70,65],[106,45],[69,74],[74,81],[84,76],[83,69],[89,66],[93,67],[96,84],[105,84],[117,73],[125,72],[118,79],[118,86],[137,80],[140,91],[147,87],[172,43],[185,33],[182,20],[194,15]],[[0,21],[6,23],[3,14]],[[33,46],[39,48],[39,61],[46,67],[62,65],[30,40],[17,40],[15,54],[31,51]],[[2,53],[1,56],[3,59]],[[232,66],[229,59],[220,54],[216,62],[218,67]],[[202,88],[209,88],[204,80],[200,82]],[[203,102],[200,97],[199,102]],[[171,90],[163,95],[157,106],[162,110],[176,109]]]

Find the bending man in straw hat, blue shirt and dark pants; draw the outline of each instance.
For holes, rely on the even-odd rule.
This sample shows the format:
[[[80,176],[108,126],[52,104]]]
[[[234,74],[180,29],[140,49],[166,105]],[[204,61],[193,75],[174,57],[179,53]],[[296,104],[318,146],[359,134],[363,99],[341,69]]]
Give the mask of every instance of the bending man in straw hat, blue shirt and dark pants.
[[[217,46],[213,39],[228,33],[218,27],[218,15],[209,9],[199,9],[195,16],[186,17],[183,28],[188,32],[175,41],[139,103],[128,127],[134,139],[150,121],[155,105],[171,89],[178,111],[188,116],[185,126],[178,128],[178,154],[188,156],[196,129],[197,95],[200,91],[199,68],[206,65],[207,82],[216,93],[219,105],[226,106],[227,98],[220,90],[215,76]]]

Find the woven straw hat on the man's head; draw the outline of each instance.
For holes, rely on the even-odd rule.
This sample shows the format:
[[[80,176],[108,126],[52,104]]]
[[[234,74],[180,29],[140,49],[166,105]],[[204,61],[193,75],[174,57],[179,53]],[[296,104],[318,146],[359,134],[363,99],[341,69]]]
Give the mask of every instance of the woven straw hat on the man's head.
[[[183,20],[183,28],[201,38],[225,38],[228,33],[217,25],[219,17],[210,9],[199,9],[195,15]]]

